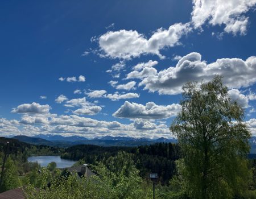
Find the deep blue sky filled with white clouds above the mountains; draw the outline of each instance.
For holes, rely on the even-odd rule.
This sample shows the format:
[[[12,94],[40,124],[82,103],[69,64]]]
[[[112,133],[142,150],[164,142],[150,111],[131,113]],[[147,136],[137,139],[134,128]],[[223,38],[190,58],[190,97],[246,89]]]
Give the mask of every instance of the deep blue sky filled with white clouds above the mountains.
[[[256,0],[0,1],[0,136],[171,138],[224,76],[256,135]]]

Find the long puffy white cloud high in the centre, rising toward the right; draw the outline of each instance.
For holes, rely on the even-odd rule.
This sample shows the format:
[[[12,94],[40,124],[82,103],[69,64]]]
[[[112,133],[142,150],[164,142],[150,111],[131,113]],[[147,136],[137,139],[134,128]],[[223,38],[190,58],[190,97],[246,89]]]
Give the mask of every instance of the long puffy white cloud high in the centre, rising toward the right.
[[[159,28],[147,39],[143,34],[134,30],[109,31],[101,35],[98,43],[102,56],[112,59],[131,59],[143,54],[158,55],[165,47],[179,45],[181,36],[191,31],[189,24],[176,23],[168,28]]]

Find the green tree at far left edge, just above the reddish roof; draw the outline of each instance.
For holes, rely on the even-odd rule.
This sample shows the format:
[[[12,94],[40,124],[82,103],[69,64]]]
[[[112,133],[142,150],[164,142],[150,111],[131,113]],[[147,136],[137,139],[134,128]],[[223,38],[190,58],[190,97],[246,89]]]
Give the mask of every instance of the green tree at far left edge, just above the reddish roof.
[[[9,157],[5,164],[5,170],[3,173],[2,186],[0,187],[0,192],[5,192],[6,190],[14,189],[18,187],[18,171],[14,164],[14,161]]]

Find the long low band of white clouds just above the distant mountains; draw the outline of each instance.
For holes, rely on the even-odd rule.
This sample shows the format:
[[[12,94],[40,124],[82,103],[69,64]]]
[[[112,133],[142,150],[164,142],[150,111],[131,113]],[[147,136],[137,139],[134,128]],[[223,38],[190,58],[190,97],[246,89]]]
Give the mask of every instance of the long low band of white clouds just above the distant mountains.
[[[32,115],[34,116],[34,115]],[[79,135],[86,138],[95,136],[133,136],[155,138],[160,136],[171,137],[165,124],[154,125],[152,122],[135,121],[122,124],[117,121],[98,121],[96,119],[80,117],[79,115],[51,114],[46,117],[24,117],[20,121],[0,118],[0,134],[5,135],[37,135],[56,134],[63,136]],[[48,118],[47,118],[48,117]],[[23,126],[23,128],[20,128]],[[19,128],[20,130],[19,130]]]

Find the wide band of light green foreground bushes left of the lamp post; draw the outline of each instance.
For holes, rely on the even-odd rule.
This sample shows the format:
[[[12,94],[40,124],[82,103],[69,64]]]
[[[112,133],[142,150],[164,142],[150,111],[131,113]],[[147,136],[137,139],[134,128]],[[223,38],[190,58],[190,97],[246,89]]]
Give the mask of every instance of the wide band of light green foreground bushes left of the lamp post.
[[[67,175],[58,169],[52,176],[48,169],[43,168],[42,172],[34,172],[32,178],[28,178],[24,189],[26,198],[143,199],[152,196],[151,187],[139,177],[131,154],[119,152],[99,162],[94,169],[96,176],[80,179],[76,173]]]

